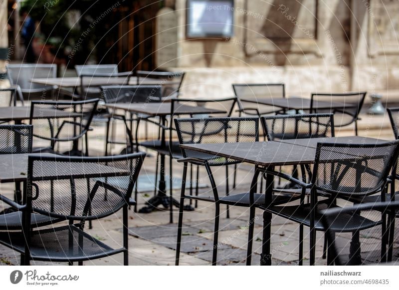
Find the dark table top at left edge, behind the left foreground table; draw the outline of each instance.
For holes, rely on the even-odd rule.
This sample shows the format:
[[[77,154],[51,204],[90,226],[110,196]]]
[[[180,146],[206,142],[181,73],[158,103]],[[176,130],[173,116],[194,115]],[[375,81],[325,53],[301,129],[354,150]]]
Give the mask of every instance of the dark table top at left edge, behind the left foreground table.
[[[64,112],[62,110],[35,110],[33,117],[36,119],[50,119],[50,118],[71,118],[79,117],[82,114]],[[0,108],[0,121],[21,121],[29,119],[30,106],[24,107],[3,107]]]

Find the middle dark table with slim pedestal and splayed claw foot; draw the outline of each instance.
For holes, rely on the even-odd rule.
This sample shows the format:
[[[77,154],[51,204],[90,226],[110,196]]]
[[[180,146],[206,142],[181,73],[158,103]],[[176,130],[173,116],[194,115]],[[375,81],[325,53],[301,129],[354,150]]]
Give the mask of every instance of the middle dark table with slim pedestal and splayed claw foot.
[[[163,103],[115,103],[115,104],[105,104],[105,107],[112,110],[123,110],[125,112],[131,112],[136,114],[146,114],[151,117],[159,117],[161,119],[160,124],[162,127],[161,133],[161,147],[166,146],[166,135],[165,135],[165,125],[166,119],[171,115],[171,103],[163,102]],[[210,109],[206,107],[195,107],[189,105],[179,105],[175,108],[173,114],[175,115],[195,115],[195,114],[223,114],[225,111]],[[137,141],[136,141],[137,142]],[[150,198],[146,204],[147,206],[141,208],[139,210],[140,213],[150,213],[159,205],[163,205],[165,208],[172,207],[175,205],[179,207],[179,202],[175,199],[170,200],[170,198],[166,194],[166,182],[165,182],[165,153],[159,152],[161,155],[160,162],[160,180],[158,184],[158,194],[154,197]],[[172,190],[172,180],[170,181],[170,190]],[[172,202],[172,204],[170,204]],[[186,210],[194,210],[191,205],[185,206]],[[172,211],[170,214],[170,222],[173,222]]]

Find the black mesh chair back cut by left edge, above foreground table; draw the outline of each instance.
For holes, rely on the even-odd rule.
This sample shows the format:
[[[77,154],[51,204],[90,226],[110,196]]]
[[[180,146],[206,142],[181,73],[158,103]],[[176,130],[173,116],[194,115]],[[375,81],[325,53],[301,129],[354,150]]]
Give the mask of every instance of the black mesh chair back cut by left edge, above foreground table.
[[[32,152],[33,126],[0,125],[0,154]]]

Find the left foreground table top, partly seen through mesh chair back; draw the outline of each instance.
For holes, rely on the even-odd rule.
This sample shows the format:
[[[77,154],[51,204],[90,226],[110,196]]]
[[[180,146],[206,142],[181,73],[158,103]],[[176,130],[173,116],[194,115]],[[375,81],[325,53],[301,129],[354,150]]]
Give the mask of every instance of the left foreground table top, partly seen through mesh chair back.
[[[26,180],[28,155],[29,154],[0,154],[0,183]],[[54,154],[51,153],[33,153],[31,155],[54,156]],[[95,172],[93,172],[93,168],[95,168]],[[78,176],[81,176],[81,178],[87,178],[91,175],[109,177],[129,174],[128,171],[120,168],[101,164],[93,167],[92,163],[82,162],[71,162],[68,166],[65,166],[65,163],[63,163],[62,167],[55,166],[47,169],[48,170],[42,170],[43,177],[55,175],[59,178],[64,178],[73,174],[76,178],[78,178]]]

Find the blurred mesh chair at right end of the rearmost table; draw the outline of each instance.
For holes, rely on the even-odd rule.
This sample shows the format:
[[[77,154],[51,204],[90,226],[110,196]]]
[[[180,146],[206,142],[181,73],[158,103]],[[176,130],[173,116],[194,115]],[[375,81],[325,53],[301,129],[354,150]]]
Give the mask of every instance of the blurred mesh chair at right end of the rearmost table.
[[[162,97],[177,98],[180,96],[180,89],[182,87],[185,72],[182,71],[144,71],[138,70],[137,84],[146,84],[148,79],[157,79],[162,85]]]

